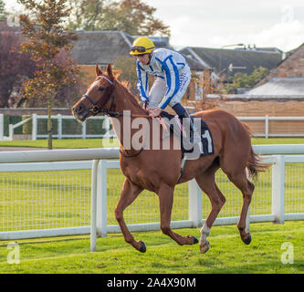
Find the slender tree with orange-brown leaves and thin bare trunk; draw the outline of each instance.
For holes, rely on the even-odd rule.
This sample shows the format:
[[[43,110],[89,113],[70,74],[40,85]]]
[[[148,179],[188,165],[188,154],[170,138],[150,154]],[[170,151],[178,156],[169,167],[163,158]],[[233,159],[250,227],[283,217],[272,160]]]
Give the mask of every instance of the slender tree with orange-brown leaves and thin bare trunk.
[[[18,0],[31,12],[29,16],[20,16],[22,34],[27,42],[21,45],[21,52],[27,52],[36,62],[38,70],[35,77],[24,82],[26,99],[39,97],[47,101],[47,133],[48,149],[52,149],[52,102],[59,89],[76,82],[79,67],[66,58],[64,66],[58,61],[58,54],[65,50],[70,53],[71,40],[76,36],[64,30],[63,22],[69,14],[67,0]]]

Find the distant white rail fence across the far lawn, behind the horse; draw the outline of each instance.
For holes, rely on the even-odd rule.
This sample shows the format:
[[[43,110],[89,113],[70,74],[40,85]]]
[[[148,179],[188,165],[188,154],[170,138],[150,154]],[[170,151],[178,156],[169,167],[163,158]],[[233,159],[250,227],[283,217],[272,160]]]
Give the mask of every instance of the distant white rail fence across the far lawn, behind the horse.
[[[264,121],[265,123],[265,130],[264,133],[257,133],[255,136],[257,137],[304,137],[304,129],[302,133],[271,133],[269,132],[269,121],[271,120],[282,120],[282,121],[301,121],[304,120],[304,117],[237,117],[238,120],[244,120],[244,121]],[[39,138],[47,138],[47,128],[46,126],[44,129],[38,130],[40,127],[38,126],[39,121],[47,120],[47,116],[41,116],[37,114],[33,114],[31,118],[28,118],[26,120],[22,120],[15,125],[10,124],[9,125],[9,135],[8,137],[4,136],[4,115],[0,114],[0,141],[2,140],[13,140],[14,139],[14,130],[18,127],[21,127],[23,124],[25,124],[27,121],[32,120],[32,140],[37,140]],[[79,126],[77,121],[73,116],[62,116],[60,114],[56,116],[52,116],[52,120],[57,120],[57,133],[53,134],[54,138],[57,139],[64,139],[64,138],[115,138],[113,131],[110,130],[110,119],[108,117],[90,117],[87,121],[83,122],[81,124],[81,129],[79,130],[79,133],[75,132],[76,126]],[[73,124],[73,126],[70,126],[67,132],[65,132],[63,129],[63,124],[65,122],[68,122],[68,120]],[[104,133],[89,133],[88,132],[88,123],[91,122],[91,120],[100,120],[100,130],[103,130]],[[55,129],[54,129],[55,130]]]

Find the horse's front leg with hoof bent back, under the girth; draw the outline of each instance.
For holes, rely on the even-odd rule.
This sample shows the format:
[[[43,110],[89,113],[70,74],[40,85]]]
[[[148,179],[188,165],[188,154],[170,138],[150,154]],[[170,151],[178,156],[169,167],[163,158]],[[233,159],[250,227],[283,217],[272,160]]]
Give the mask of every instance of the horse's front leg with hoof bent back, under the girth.
[[[182,236],[174,233],[170,227],[171,213],[173,208],[173,192],[174,189],[162,183],[158,196],[160,201],[161,211],[161,229],[164,235],[170,236],[178,245],[194,245],[198,240],[192,236]]]

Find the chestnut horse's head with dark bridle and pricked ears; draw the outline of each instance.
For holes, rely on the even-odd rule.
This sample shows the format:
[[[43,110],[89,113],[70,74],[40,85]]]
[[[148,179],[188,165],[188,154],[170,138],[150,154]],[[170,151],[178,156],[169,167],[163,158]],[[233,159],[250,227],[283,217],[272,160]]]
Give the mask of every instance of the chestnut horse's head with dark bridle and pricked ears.
[[[84,121],[90,116],[95,116],[100,110],[106,110],[110,101],[114,87],[114,76],[110,64],[107,72],[103,73],[96,65],[96,79],[89,85],[87,92],[73,106],[73,116],[80,121]]]

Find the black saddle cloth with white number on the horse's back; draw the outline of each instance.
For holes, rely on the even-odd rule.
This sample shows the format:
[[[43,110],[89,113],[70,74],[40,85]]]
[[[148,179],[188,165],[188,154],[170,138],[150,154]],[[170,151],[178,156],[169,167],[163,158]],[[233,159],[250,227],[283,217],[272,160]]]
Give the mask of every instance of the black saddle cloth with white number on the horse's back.
[[[190,130],[189,126],[183,127],[183,121],[181,121],[178,116],[173,116],[163,110],[161,112],[161,117],[167,126],[170,127],[171,132],[177,135],[177,137],[180,139],[184,159],[198,159],[201,156],[214,154],[214,142],[212,139],[212,134],[204,120],[190,116],[190,119],[193,120],[194,128],[197,133],[200,134],[200,137],[197,138],[198,135],[195,136],[194,133],[190,133],[190,135],[194,137],[194,143],[189,143],[189,139],[183,139],[184,136],[189,137],[189,133],[185,132]]]

